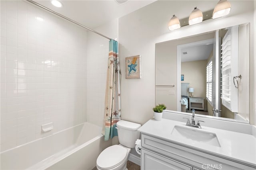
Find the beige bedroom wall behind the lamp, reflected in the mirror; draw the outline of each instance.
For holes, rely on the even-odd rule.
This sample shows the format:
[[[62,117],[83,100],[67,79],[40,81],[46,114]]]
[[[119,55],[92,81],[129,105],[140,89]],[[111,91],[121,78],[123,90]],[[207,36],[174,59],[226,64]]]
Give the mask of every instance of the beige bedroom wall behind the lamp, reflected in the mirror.
[[[206,64],[207,60],[181,63],[181,74],[184,74],[184,81],[182,83],[189,83],[189,86],[194,88],[194,92],[192,93],[194,97],[205,98]]]

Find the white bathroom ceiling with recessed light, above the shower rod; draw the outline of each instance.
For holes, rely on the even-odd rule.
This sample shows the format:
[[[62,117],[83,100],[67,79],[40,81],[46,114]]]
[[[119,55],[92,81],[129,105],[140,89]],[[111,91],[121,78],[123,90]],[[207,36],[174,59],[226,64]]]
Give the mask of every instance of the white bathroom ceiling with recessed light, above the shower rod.
[[[63,4],[61,8],[53,6],[50,0],[34,1],[93,29],[134,12],[156,0],[128,0],[121,5],[115,0],[60,0]]]

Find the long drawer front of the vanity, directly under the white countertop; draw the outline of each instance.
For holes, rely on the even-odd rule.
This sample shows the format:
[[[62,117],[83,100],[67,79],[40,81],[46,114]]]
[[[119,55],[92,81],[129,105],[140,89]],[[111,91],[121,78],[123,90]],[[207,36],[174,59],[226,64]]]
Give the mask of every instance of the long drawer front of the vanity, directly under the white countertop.
[[[200,169],[205,168],[206,165],[212,165],[215,169],[222,170],[255,170],[253,167],[237,161],[234,162],[234,160],[208,154],[191,147],[185,147],[178,143],[172,143],[145,134],[141,134],[141,146],[142,150],[149,149]]]

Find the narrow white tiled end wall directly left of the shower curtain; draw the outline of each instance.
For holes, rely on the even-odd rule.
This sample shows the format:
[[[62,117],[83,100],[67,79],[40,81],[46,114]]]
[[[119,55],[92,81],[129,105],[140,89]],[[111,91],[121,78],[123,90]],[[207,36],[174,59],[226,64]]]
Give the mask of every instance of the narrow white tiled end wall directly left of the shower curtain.
[[[95,29],[112,38],[118,38],[118,19]],[[102,126],[106,74],[108,70],[109,40],[88,31],[87,33],[87,121]]]

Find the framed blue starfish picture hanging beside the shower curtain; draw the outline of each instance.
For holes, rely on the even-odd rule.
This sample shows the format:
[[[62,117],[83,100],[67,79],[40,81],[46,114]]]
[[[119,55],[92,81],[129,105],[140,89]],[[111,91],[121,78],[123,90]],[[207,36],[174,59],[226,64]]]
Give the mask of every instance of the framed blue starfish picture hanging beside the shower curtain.
[[[140,78],[140,55],[125,58],[126,78]]]

